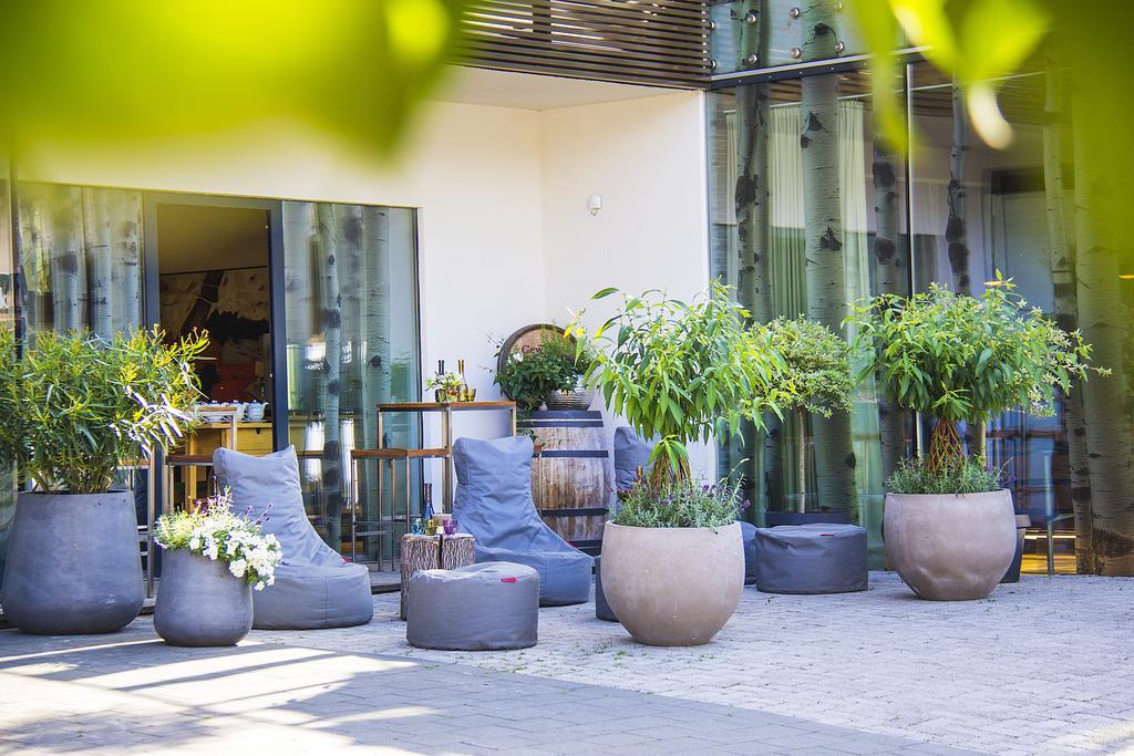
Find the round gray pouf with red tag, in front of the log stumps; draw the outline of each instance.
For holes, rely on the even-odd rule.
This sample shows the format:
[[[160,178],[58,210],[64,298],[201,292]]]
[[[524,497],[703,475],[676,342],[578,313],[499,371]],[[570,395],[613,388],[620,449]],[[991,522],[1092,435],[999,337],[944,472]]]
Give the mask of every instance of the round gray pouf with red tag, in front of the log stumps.
[[[418,648],[500,651],[534,646],[540,576],[531,567],[480,562],[409,578],[406,640]]]

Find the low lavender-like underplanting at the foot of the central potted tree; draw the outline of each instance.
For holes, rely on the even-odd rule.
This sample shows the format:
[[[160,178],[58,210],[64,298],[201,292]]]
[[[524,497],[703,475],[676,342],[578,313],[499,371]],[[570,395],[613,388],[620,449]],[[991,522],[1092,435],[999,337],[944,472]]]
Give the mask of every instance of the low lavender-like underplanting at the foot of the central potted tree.
[[[717,485],[670,481],[654,485],[648,481],[618,493],[620,509],[615,525],[642,528],[718,528],[735,523],[747,507],[741,501],[741,484],[728,479]]]

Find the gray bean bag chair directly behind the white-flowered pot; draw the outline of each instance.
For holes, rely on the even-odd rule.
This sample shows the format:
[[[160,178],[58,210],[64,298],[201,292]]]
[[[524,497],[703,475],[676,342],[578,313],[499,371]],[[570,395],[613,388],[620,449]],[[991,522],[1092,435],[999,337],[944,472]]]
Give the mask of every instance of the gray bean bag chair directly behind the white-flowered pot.
[[[271,504],[264,533],[274,535],[284,550],[276,584],[252,593],[254,628],[312,630],[370,622],[370,574],[365,564],[345,561],[311,527],[295,447],[265,457],[218,449],[213,469],[237,511],[247,508],[256,517]]]

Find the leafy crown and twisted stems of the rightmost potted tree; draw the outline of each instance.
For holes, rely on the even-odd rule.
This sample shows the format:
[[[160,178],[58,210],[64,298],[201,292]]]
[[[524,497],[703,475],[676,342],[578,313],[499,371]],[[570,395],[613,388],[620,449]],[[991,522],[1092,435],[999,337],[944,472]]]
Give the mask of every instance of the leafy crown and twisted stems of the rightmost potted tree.
[[[854,348],[866,358],[862,375],[877,372],[898,406],[937,421],[931,470],[964,460],[958,422],[983,428],[991,415],[1013,407],[1050,415],[1057,388],[1067,391],[1092,371],[1109,374],[1088,365],[1091,347],[1078,331],[1064,331],[1013,289],[997,272],[980,297],[933,283],[909,298],[882,295],[852,306]],[[983,430],[981,436],[976,456],[983,456]]]

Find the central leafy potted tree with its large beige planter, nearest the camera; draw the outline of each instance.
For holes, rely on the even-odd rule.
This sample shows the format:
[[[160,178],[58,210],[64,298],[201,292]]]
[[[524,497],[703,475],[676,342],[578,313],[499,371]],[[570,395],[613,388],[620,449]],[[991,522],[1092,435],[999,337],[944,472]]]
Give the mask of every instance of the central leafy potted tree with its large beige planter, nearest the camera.
[[[615,294],[606,289],[595,299]],[[581,314],[582,315],[582,314]],[[641,438],[657,438],[651,472],[602,536],[602,588],[618,621],[641,643],[708,643],[736,610],[744,545],[736,486],[691,479],[687,447],[741,421],[779,413],[784,364],[748,313],[714,283],[691,303],[658,291],[623,296],[620,311],[587,335],[586,380]]]

